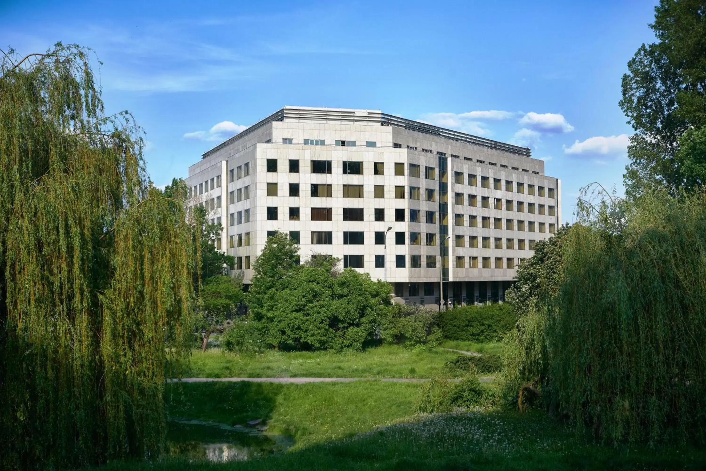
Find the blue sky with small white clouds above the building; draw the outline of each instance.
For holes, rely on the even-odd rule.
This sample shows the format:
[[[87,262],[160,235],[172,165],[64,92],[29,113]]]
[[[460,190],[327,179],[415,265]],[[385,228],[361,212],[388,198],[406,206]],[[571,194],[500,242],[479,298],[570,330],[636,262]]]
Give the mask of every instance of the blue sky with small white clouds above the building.
[[[0,1],[0,47],[95,49],[155,184],[284,105],[382,109],[530,145],[571,221],[580,187],[623,191],[621,76],[655,3]]]

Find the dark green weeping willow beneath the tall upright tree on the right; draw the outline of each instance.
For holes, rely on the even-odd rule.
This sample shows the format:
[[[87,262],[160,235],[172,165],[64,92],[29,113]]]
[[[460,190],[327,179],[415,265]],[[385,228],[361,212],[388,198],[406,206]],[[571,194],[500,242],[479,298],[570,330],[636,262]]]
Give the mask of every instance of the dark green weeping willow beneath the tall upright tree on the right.
[[[517,373],[602,441],[706,443],[705,196],[579,208],[515,333]]]

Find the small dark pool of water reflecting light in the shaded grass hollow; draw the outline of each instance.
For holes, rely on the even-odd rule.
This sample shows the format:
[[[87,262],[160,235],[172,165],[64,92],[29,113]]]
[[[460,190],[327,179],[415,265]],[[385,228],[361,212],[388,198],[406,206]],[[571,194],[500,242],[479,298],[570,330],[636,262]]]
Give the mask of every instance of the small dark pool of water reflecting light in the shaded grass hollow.
[[[185,419],[167,422],[169,454],[190,460],[245,461],[282,453],[293,444],[289,436],[265,434],[251,427]]]

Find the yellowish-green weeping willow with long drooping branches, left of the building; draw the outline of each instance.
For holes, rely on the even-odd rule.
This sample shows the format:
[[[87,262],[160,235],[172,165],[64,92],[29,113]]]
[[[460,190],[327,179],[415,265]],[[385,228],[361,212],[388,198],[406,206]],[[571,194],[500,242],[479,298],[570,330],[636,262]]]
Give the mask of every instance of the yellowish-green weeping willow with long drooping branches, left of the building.
[[[90,51],[0,62],[0,467],[159,455],[167,356],[186,354],[186,187],[155,189]]]

